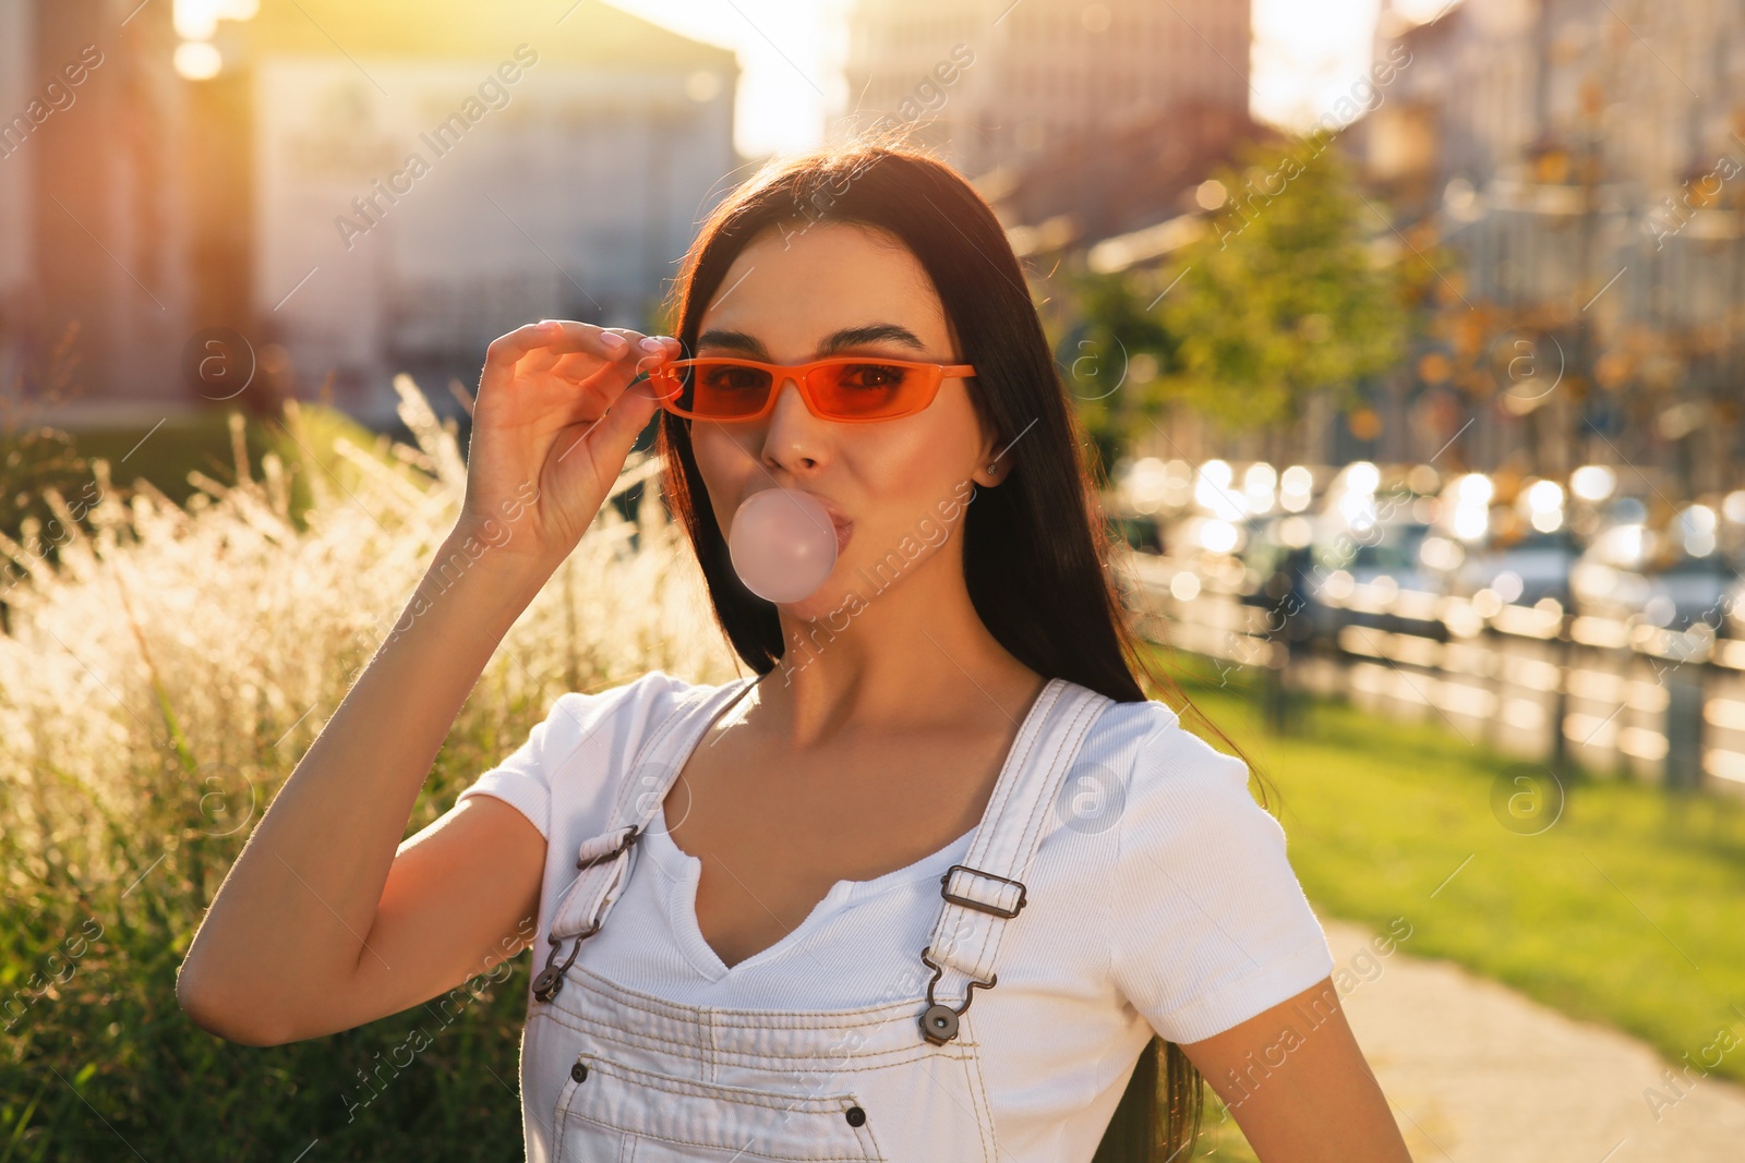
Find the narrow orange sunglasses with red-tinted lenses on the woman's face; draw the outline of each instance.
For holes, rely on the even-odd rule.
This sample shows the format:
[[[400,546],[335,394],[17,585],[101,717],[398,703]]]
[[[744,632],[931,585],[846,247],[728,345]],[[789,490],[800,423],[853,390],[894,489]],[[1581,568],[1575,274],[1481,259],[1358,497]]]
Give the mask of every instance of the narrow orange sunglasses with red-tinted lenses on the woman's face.
[[[914,415],[946,378],[975,375],[967,363],[838,356],[782,364],[756,359],[674,359],[647,373],[660,406],[689,420],[759,420],[787,380],[820,420],[867,424]]]

